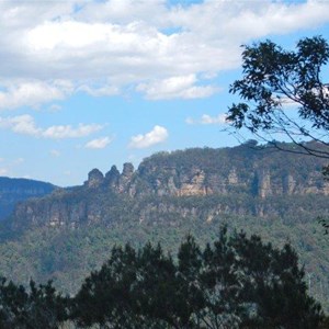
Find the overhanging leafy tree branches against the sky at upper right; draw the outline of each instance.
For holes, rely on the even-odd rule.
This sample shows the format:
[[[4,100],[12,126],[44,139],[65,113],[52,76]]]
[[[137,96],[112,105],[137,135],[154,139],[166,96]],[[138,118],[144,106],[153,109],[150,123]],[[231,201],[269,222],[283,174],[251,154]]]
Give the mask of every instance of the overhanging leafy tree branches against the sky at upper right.
[[[296,50],[271,41],[243,48],[243,77],[230,86],[243,102],[229,107],[227,121],[282,149],[275,136],[284,134],[298,146],[294,151],[329,159],[329,81],[322,80],[329,60],[327,41],[306,37]]]

